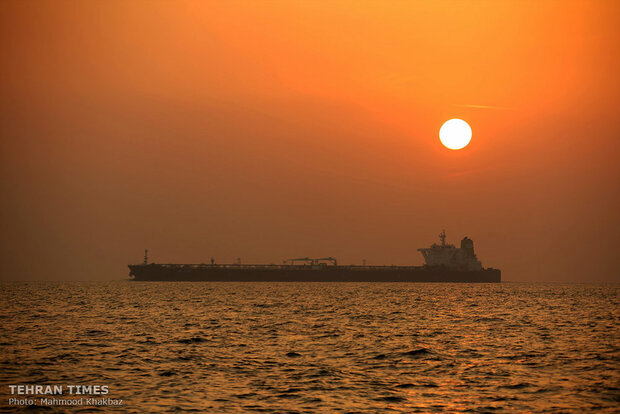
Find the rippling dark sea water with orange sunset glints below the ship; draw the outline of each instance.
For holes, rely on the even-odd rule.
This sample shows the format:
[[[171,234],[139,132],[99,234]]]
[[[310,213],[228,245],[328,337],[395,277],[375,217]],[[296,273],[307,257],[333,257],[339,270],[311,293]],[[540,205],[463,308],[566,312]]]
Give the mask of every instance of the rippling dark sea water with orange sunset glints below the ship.
[[[102,384],[129,412],[620,411],[618,285],[0,288],[2,410],[9,384]]]

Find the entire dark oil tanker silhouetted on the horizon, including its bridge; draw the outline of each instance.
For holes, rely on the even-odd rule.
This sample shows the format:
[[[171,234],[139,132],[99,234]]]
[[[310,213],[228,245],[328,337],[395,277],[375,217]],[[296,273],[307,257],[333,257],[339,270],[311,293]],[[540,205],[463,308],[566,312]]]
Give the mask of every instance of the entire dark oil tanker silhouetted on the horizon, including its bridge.
[[[423,266],[339,265],[333,257],[312,259],[300,257],[280,264],[161,264],[144,262],[129,265],[129,275],[136,281],[208,281],[208,282],[450,282],[499,283],[501,271],[483,268],[474,253],[474,242],[468,237],[456,247],[446,243],[445,230],[439,235],[441,244],[418,249],[424,256]]]

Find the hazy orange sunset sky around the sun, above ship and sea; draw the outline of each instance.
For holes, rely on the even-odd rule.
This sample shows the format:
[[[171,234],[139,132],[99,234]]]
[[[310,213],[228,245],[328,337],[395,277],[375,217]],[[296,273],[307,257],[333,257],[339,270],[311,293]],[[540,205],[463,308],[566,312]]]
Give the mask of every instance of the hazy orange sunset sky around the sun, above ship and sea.
[[[156,262],[620,281],[615,1],[3,1],[3,279]],[[473,129],[441,145],[450,118]]]

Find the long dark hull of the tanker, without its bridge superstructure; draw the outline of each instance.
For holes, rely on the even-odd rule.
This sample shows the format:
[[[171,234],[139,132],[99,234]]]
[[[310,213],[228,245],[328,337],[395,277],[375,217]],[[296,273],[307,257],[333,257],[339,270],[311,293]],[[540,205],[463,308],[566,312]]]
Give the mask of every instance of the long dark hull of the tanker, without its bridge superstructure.
[[[130,265],[136,281],[206,282],[444,282],[499,283],[498,269],[476,271],[413,266]]]

